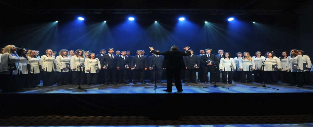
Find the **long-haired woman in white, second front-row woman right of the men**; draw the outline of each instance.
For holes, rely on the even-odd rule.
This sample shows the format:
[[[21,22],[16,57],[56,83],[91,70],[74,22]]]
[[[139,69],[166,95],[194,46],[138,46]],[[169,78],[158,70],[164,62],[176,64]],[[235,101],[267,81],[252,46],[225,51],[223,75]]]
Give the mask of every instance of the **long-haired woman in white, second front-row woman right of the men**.
[[[249,52],[244,52],[244,58],[239,60],[239,69],[241,70],[240,83],[252,83],[252,71],[255,70],[255,65]]]

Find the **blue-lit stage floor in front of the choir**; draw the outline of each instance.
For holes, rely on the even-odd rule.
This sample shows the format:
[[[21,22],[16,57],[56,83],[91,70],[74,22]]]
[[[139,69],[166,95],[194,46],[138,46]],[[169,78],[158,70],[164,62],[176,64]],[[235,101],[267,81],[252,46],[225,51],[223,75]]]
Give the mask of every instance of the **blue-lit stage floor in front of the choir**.
[[[166,87],[166,83],[157,84],[158,87]],[[174,84],[173,84],[174,85]],[[270,88],[253,88],[250,89],[250,87],[258,87],[262,86],[262,84],[259,83],[252,83],[252,84],[241,84],[237,82],[233,82],[233,84],[223,84],[223,83],[217,83],[216,85],[221,87],[227,87],[229,89],[225,88],[203,88],[203,87],[209,87],[213,86],[214,84],[204,84],[204,83],[198,83],[198,84],[192,84],[188,83],[182,84],[183,92],[184,93],[311,93],[313,92],[313,85],[305,85],[303,87],[296,87],[296,86],[290,86],[289,84],[283,84],[278,83],[276,85],[266,84],[267,87],[277,88],[276,89],[270,89]],[[18,90],[18,92],[15,92],[17,94],[51,94],[51,93],[58,93],[58,94],[166,94],[167,92],[164,92],[163,89],[166,88],[157,88],[156,90],[153,90],[154,88],[145,88],[145,87],[154,87],[154,84],[147,83],[147,84],[109,84],[109,85],[103,85],[103,84],[97,84],[97,85],[81,85],[82,88],[89,87],[89,89],[86,89],[87,91],[83,90],[63,90],[63,89],[74,89],[77,88],[78,85],[53,85],[53,86],[42,86],[42,84],[38,85],[36,88],[27,88],[23,90]],[[175,85],[173,86],[173,92],[176,93],[177,89],[175,88]]]

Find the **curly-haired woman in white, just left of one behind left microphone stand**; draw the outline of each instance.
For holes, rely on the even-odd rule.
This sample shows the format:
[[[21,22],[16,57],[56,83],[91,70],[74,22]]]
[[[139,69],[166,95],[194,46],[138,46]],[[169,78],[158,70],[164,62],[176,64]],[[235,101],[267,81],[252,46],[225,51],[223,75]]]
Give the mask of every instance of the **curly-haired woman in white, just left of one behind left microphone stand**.
[[[59,55],[56,58],[57,61],[57,84],[58,85],[67,85],[69,84],[69,61],[71,60],[67,54],[68,50],[62,49],[59,52]]]

